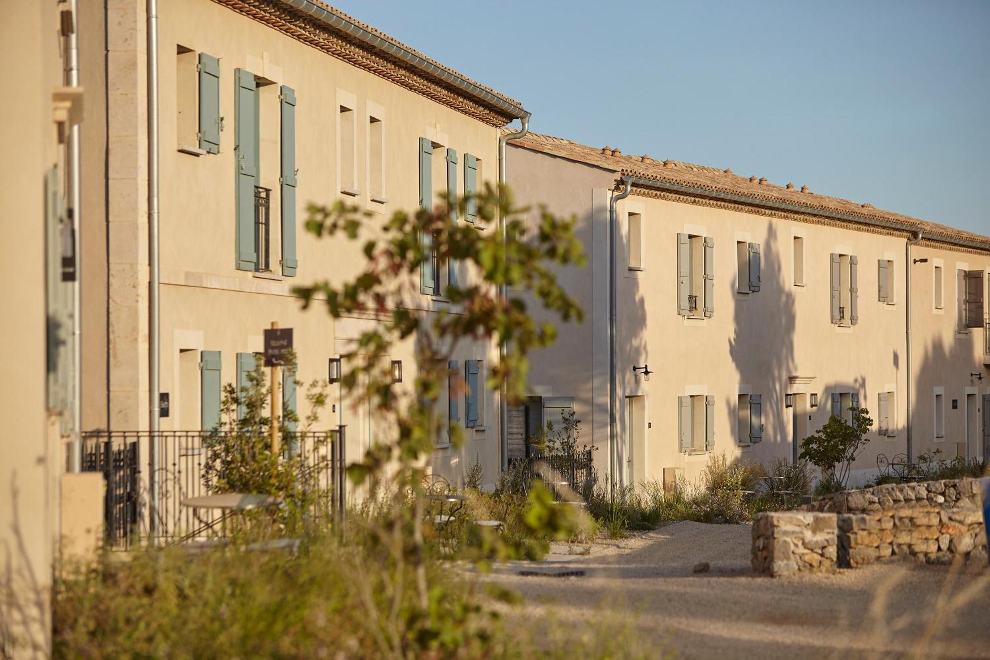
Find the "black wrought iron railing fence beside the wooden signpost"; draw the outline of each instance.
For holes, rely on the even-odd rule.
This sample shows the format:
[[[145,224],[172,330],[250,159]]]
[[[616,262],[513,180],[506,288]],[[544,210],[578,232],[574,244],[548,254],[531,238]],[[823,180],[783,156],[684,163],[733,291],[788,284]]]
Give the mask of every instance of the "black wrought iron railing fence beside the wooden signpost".
[[[194,510],[183,500],[217,495],[207,478],[210,444],[232,439],[206,431],[89,431],[83,434],[83,472],[102,472],[106,480],[104,521],[110,547],[127,548],[152,534],[174,540],[209,524],[214,512]],[[154,485],[149,497],[148,449],[158,448]],[[298,497],[307,515],[343,516],[347,505],[345,427],[332,431],[286,433],[283,462],[294,462]],[[149,524],[153,520],[154,525]]]

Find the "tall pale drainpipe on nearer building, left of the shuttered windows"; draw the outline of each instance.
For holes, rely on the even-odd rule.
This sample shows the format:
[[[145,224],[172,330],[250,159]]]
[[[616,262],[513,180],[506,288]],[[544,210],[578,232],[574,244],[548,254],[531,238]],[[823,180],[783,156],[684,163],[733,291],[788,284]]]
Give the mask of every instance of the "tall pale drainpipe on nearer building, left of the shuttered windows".
[[[148,528],[158,535],[158,370],[160,367],[161,280],[158,263],[158,3],[147,0],[148,13]]]

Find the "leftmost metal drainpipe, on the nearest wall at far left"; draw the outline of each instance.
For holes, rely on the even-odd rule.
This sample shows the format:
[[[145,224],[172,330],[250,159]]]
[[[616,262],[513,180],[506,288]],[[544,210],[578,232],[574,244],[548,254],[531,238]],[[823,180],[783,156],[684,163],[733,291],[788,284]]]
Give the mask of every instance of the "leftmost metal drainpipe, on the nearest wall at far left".
[[[79,86],[79,7],[70,0],[72,32],[68,36],[68,57],[65,84]],[[69,133],[68,185],[69,206],[72,208],[72,255],[75,258],[75,281],[72,282],[72,444],[69,448],[69,472],[82,470],[82,216],[79,173],[79,125],[73,124]]]

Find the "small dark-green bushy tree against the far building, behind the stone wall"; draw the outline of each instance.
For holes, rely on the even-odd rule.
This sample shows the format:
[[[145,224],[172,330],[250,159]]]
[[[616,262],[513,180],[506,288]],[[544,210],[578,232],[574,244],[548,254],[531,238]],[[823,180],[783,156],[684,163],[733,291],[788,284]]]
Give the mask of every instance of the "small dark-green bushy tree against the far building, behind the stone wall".
[[[852,423],[832,415],[825,426],[801,441],[801,460],[809,461],[822,471],[822,483],[845,489],[849,469],[869,439],[866,432],[873,426],[866,408],[849,407]]]

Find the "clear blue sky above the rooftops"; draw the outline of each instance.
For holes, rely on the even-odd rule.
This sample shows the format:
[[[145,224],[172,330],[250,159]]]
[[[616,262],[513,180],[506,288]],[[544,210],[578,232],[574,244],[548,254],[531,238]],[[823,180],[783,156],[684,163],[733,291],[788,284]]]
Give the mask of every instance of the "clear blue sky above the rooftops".
[[[534,131],[990,235],[988,0],[330,2]]]

